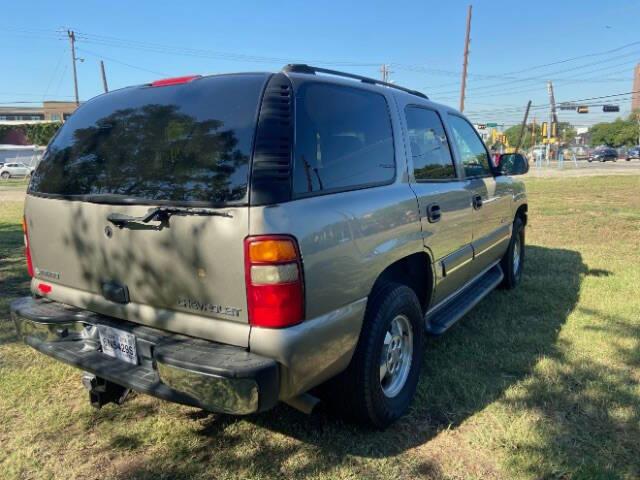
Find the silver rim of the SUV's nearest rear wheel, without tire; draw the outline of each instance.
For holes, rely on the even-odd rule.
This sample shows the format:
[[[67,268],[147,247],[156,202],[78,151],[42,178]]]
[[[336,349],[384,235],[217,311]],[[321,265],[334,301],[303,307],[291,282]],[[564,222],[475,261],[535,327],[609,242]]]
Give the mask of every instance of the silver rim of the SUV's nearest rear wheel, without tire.
[[[413,360],[413,330],[404,315],[396,316],[384,336],[380,354],[380,386],[385,396],[398,395],[409,377]]]

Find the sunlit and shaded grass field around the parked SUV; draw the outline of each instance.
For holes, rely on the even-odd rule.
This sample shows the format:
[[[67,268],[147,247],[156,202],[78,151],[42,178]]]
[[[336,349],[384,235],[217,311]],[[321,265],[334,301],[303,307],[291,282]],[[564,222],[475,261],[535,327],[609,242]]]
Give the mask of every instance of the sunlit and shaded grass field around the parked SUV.
[[[136,395],[18,343],[19,202],[0,203],[2,478],[639,478],[640,176],[529,179],[526,275],[430,338],[385,432],[287,406],[234,418]]]

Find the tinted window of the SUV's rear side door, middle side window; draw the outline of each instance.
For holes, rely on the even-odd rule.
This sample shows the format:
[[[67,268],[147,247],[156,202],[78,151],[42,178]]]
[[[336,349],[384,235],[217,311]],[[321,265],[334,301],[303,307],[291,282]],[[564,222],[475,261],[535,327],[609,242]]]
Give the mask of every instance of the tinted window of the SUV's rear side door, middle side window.
[[[405,109],[416,180],[456,178],[449,143],[440,116],[420,107]]]

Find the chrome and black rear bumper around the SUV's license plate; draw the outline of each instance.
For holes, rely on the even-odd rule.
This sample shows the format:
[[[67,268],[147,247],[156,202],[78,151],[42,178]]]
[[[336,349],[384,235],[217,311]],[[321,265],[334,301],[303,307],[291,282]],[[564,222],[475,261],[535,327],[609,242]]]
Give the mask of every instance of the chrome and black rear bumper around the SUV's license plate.
[[[18,335],[27,345],[113,383],[213,412],[249,414],[278,402],[275,360],[240,347],[197,340],[44,299],[11,304]],[[98,325],[136,337],[138,365],[101,352]]]

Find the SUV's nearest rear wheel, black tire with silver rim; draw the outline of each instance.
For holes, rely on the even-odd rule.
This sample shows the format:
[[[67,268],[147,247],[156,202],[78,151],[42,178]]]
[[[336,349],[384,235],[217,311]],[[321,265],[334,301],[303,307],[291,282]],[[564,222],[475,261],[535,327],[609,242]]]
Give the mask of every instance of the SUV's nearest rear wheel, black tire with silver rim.
[[[400,418],[413,400],[424,350],[424,322],[412,289],[388,283],[376,290],[369,297],[351,363],[329,382],[327,393],[337,412],[383,429]]]

